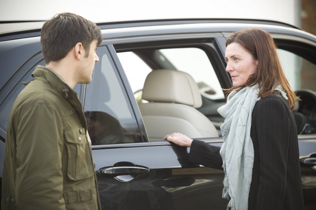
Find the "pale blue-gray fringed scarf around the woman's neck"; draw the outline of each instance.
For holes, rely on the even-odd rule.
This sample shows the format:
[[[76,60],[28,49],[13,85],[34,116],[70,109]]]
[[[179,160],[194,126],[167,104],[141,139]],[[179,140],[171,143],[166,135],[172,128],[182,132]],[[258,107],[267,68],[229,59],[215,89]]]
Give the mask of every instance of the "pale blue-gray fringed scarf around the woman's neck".
[[[238,90],[240,88],[237,88]],[[224,143],[220,150],[225,178],[223,198],[229,199],[227,209],[248,209],[248,196],[252,178],[254,150],[250,138],[251,117],[258,97],[258,84],[229,93],[227,103],[218,108],[225,118],[221,125]],[[285,99],[286,93],[277,86]]]

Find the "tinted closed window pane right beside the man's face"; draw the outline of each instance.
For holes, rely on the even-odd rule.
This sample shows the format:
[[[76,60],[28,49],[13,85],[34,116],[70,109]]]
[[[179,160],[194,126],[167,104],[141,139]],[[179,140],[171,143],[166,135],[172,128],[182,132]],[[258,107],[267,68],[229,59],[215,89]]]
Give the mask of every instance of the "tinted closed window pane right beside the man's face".
[[[93,145],[142,142],[120,75],[107,48],[99,47],[93,80],[86,88],[84,113]]]

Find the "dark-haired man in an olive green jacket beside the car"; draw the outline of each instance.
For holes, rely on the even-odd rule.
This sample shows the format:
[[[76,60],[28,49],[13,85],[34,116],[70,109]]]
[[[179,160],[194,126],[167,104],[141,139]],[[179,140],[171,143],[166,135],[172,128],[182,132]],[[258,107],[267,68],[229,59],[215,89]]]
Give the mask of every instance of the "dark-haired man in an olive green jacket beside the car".
[[[100,29],[71,13],[44,23],[38,66],[11,111],[2,209],[100,209],[78,83],[91,82]]]

